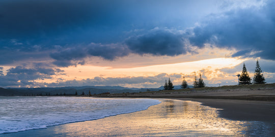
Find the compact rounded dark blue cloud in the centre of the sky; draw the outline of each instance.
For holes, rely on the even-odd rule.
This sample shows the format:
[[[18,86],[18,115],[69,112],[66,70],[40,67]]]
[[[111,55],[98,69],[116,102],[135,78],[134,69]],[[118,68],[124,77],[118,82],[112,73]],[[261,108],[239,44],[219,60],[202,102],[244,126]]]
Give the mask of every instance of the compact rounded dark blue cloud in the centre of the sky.
[[[169,30],[151,30],[145,35],[126,40],[129,49],[137,54],[175,56],[186,53],[182,36]]]

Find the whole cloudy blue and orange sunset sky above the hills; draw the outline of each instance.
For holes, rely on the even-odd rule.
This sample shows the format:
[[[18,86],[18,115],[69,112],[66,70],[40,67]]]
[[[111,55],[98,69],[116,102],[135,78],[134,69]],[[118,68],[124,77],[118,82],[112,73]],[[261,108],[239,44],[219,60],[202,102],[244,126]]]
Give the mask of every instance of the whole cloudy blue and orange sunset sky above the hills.
[[[2,0],[0,87],[275,82],[275,1]]]

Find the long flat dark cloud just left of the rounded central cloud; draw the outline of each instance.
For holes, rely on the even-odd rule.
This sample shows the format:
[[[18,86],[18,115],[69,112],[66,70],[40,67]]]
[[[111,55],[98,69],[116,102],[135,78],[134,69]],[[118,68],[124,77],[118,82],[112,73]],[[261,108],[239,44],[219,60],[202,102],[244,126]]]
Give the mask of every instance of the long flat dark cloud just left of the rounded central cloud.
[[[106,60],[114,60],[118,57],[127,56],[130,50],[125,45],[121,44],[95,44],[71,46],[66,49],[61,49],[51,53],[51,58],[55,59],[53,62],[58,66],[69,66],[75,64],[85,64],[82,60],[85,57],[97,56]]]

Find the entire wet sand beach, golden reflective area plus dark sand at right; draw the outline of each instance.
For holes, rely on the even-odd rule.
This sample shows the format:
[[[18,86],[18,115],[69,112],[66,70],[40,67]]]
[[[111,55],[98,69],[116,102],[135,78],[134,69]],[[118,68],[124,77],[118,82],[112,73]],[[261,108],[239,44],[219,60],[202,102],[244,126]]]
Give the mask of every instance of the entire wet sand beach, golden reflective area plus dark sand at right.
[[[177,100],[180,99],[180,100]],[[273,136],[274,102],[159,99],[148,110],[0,136]],[[222,108],[219,110],[200,105]],[[254,107],[253,107],[254,106]],[[261,112],[260,112],[261,111]],[[220,113],[218,113],[220,112]],[[266,112],[266,113],[264,113]],[[274,115],[273,115],[274,116]],[[225,118],[223,118],[225,117]],[[226,119],[227,118],[227,119]],[[231,120],[229,120],[231,119]],[[249,122],[249,121],[262,122]],[[269,121],[269,122],[268,122]]]

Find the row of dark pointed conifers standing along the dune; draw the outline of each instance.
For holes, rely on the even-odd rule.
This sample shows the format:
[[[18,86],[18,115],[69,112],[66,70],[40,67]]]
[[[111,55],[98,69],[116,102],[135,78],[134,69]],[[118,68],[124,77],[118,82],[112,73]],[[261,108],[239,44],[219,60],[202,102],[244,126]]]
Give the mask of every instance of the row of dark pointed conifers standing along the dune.
[[[245,85],[245,84],[252,84],[251,82],[251,78],[249,77],[249,74],[246,70],[245,64],[243,63],[243,67],[242,67],[242,73],[239,76],[239,85]],[[265,78],[262,74],[262,70],[259,64],[259,61],[257,60],[256,62],[256,68],[255,68],[255,72],[254,72],[254,77],[253,77],[253,83],[254,84],[264,84],[265,82]],[[201,88],[201,87],[205,87],[205,83],[203,82],[203,78],[200,74],[199,79],[196,76],[196,72],[194,75],[194,81],[193,81],[193,86],[194,88]],[[180,85],[180,87],[182,89],[184,88],[188,88],[188,84],[187,81],[185,80],[185,78],[183,77],[182,83]],[[173,83],[171,82],[170,78],[167,82],[167,80],[165,80],[164,86],[163,86],[164,90],[173,90],[174,86]]]

